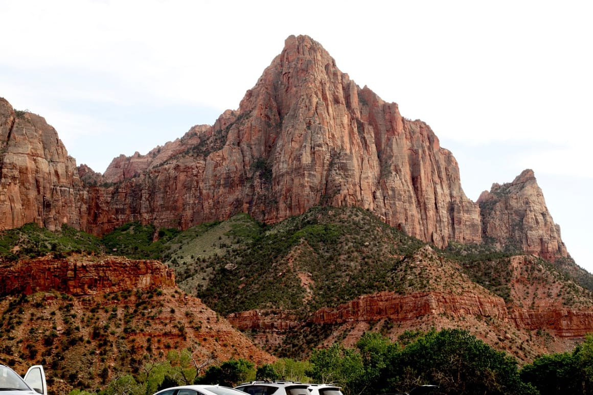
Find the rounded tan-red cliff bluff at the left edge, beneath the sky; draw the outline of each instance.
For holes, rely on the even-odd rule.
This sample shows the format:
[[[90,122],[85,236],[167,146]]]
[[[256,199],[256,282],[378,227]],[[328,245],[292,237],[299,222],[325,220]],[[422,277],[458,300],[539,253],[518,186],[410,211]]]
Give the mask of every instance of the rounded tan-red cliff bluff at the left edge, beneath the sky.
[[[28,222],[59,229],[88,225],[87,191],[58,133],[0,98],[0,230]]]

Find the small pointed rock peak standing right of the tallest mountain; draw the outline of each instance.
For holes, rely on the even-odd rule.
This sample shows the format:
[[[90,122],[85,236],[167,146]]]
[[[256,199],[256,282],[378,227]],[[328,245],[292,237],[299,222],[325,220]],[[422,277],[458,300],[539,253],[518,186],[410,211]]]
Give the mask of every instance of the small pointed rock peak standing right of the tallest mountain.
[[[493,184],[477,203],[484,237],[500,247],[511,245],[550,261],[568,256],[533,170],[524,170],[512,183]]]

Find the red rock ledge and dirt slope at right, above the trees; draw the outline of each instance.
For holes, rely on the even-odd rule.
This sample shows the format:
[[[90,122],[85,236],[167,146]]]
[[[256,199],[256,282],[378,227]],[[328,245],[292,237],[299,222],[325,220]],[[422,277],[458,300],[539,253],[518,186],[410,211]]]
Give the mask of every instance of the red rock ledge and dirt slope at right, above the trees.
[[[278,355],[307,355],[312,346],[354,345],[368,330],[396,340],[417,330],[461,328],[519,361],[541,353],[570,351],[593,332],[593,294],[533,256],[505,258],[494,270],[508,271],[509,298],[477,284],[468,269],[429,246],[394,267],[397,291],[362,295],[315,311],[251,310],[229,321],[254,333],[254,340]],[[479,270],[474,268],[473,270]]]

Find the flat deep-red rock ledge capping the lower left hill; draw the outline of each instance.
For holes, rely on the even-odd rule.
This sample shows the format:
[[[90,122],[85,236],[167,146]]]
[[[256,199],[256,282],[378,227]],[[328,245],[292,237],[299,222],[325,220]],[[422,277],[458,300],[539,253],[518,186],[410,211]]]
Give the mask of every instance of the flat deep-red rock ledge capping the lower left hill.
[[[173,286],[173,269],[156,260],[38,258],[0,266],[0,295],[58,291],[85,296]]]

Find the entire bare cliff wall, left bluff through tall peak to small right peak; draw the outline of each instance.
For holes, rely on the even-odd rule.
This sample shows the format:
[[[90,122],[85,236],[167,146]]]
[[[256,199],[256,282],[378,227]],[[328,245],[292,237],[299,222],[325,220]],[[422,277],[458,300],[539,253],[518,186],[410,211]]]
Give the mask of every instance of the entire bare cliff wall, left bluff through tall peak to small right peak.
[[[512,202],[484,195],[494,209],[480,217],[431,128],[358,87],[307,36],[286,39],[237,111],[147,155],[114,158],[103,176],[77,170],[42,117],[5,100],[0,136],[0,229],[67,223],[101,235],[129,221],[186,229],[238,212],[278,222],[315,205],[355,205],[437,247],[488,237],[566,256],[537,184],[523,183]],[[507,205],[521,226],[502,221]]]

